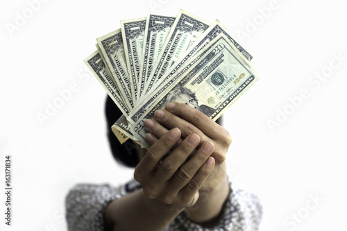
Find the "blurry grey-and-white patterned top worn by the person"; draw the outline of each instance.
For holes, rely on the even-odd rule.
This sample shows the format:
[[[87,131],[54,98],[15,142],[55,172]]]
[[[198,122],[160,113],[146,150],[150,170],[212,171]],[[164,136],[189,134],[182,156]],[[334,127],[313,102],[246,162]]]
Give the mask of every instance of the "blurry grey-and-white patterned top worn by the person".
[[[108,203],[139,188],[141,185],[135,180],[117,188],[110,185],[76,185],[69,191],[65,201],[69,231],[103,231],[103,212]],[[223,218],[214,228],[202,228],[181,213],[164,231],[255,231],[262,218],[262,206],[254,194],[230,190],[222,213]]]

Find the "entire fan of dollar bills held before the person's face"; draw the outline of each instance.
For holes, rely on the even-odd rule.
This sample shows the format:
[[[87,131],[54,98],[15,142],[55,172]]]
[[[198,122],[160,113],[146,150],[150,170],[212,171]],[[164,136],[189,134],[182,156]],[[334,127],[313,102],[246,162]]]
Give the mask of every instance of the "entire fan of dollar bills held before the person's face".
[[[130,138],[149,148],[144,121],[168,102],[216,120],[257,80],[253,57],[218,20],[180,10],[120,24],[84,61],[123,113],[112,126],[121,143]]]

